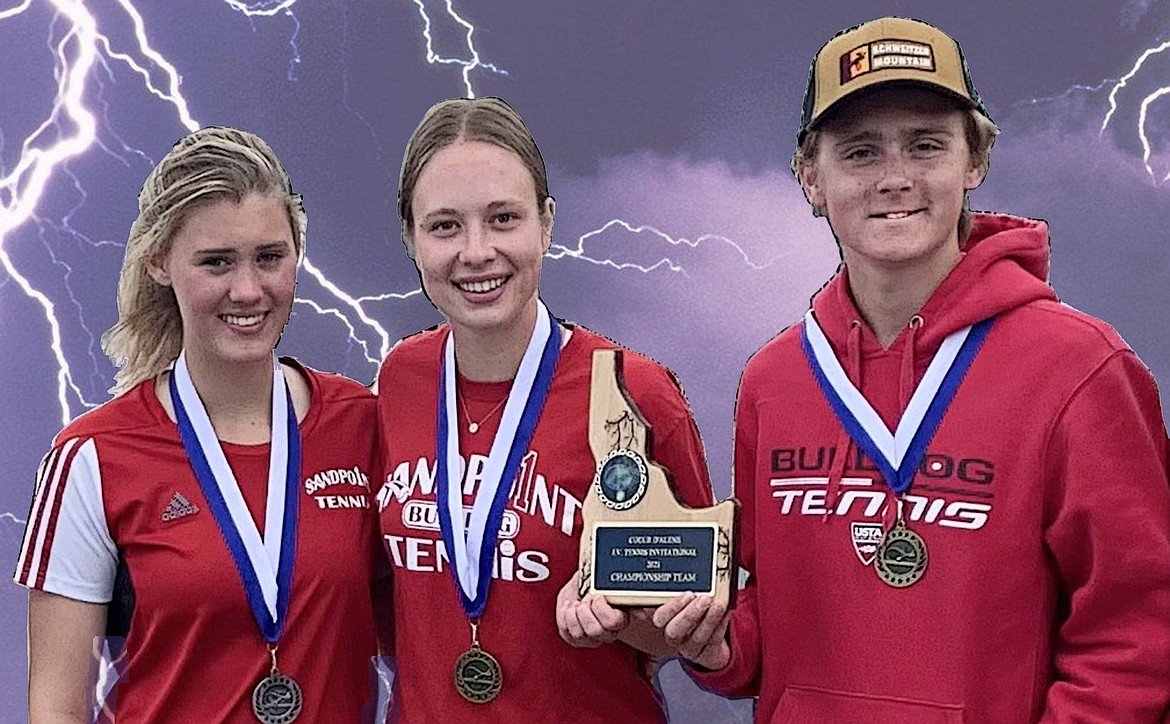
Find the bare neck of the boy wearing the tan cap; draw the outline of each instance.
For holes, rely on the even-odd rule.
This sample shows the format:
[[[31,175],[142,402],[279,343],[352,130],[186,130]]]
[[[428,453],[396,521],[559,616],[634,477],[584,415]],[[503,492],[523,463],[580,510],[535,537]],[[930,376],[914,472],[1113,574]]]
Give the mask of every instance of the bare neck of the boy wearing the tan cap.
[[[888,347],[959,262],[957,244],[948,244],[929,263],[874,264],[849,260],[849,291],[866,324]]]

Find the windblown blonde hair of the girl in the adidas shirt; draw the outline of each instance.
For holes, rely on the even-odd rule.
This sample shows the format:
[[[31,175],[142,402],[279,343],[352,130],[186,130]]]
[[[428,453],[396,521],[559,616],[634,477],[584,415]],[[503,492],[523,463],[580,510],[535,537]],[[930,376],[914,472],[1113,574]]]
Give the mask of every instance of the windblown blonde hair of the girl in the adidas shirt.
[[[159,374],[183,349],[174,290],[151,278],[149,263],[170,253],[193,211],[225,199],[239,204],[253,193],[283,200],[300,258],[308,223],[304,206],[280,159],[259,136],[223,126],[200,129],[180,138],[146,177],[118,281],[118,323],[102,336],[102,350],[122,367],[112,394]]]

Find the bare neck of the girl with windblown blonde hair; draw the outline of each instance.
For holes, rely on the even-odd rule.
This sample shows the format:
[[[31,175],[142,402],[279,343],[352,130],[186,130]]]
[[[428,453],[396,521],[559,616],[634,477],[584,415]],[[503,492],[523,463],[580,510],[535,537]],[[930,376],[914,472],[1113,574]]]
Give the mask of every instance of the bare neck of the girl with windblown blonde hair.
[[[187,350],[186,359],[191,381],[220,440],[256,444],[271,439],[270,361],[216,365],[192,350]]]

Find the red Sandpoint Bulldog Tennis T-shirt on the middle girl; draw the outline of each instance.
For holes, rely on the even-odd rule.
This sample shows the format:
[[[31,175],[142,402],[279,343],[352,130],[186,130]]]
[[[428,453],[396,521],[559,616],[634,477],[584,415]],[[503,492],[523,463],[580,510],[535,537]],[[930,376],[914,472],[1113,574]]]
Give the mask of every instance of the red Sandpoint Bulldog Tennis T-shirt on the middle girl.
[[[577,568],[580,506],[592,484],[589,392],[592,352],[612,342],[573,326],[557,361],[552,387],[529,453],[511,488],[480,642],[503,669],[503,690],[487,704],[456,691],[454,666],[470,644],[435,509],[435,430],[439,370],[448,327],[399,343],[378,377],[386,481],[378,492],[381,532],[394,571],[398,706],[404,724],[422,722],[656,722],[662,703],[645,657],[624,643],[578,649],[560,640],[557,592]],[[624,353],[625,381],[652,427],[651,456],[673,476],[688,505],[710,505],[710,480],[690,408],[668,370]],[[483,462],[500,425],[510,382],[460,378],[470,419],[487,416],[470,434],[460,405],[460,449],[470,506]]]

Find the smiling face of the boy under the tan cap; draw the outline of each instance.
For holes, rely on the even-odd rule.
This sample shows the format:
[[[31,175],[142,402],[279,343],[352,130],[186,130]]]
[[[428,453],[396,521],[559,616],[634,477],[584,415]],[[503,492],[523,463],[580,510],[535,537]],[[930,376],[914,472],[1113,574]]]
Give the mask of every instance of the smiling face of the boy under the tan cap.
[[[985,172],[968,147],[964,111],[930,90],[883,89],[844,101],[819,131],[801,184],[847,267],[958,258],[965,194]]]

